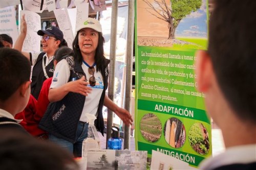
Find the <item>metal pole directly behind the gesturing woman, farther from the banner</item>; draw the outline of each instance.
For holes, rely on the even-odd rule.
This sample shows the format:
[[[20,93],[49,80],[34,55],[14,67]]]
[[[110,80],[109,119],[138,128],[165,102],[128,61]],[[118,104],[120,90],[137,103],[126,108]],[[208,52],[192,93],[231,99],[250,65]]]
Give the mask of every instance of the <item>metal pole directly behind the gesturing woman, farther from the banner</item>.
[[[115,85],[115,62],[116,62],[116,34],[117,34],[118,1],[112,1],[111,13],[111,36],[110,36],[110,69],[109,69],[109,91],[110,100],[114,99]],[[104,26],[103,26],[104,27]],[[113,111],[108,109],[108,119],[106,123],[106,149],[108,149],[108,139],[111,137],[111,127],[113,125]]]

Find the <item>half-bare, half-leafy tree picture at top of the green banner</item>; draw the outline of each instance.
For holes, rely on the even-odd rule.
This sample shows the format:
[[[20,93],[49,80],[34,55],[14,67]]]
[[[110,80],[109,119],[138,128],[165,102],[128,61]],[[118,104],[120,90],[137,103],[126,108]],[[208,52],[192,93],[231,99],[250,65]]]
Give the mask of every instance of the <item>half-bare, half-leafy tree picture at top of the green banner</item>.
[[[143,0],[137,4],[140,9],[138,45],[186,48],[202,48],[205,45],[205,1]]]

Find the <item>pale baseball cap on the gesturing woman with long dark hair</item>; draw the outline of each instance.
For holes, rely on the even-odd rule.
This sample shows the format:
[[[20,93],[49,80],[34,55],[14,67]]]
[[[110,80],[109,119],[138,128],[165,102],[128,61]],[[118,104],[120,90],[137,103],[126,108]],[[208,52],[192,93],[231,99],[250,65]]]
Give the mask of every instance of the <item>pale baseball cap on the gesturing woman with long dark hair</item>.
[[[97,32],[102,32],[100,22],[94,18],[87,18],[85,21],[81,21],[76,27],[76,32],[83,28],[91,28]]]

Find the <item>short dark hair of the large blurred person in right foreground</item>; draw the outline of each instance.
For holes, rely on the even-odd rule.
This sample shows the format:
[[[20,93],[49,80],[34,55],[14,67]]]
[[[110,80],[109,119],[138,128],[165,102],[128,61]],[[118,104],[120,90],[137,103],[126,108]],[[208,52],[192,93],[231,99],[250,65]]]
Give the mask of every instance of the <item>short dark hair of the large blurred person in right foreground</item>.
[[[255,1],[243,3],[238,0],[214,1],[214,11],[209,20],[207,51],[215,77],[229,106],[239,119],[248,120],[254,125],[256,123],[255,6]],[[221,16],[225,16],[225,19]]]

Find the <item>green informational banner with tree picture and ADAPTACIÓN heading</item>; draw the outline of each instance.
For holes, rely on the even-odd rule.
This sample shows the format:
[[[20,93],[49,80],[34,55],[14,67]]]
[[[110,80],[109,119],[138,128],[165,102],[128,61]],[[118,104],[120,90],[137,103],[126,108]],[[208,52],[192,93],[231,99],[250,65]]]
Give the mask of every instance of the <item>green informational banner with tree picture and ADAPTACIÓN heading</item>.
[[[207,47],[207,1],[136,1],[136,149],[197,167],[212,154],[195,53]]]

